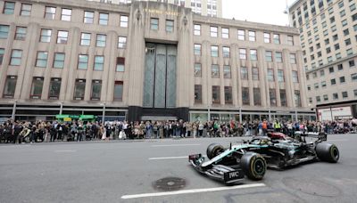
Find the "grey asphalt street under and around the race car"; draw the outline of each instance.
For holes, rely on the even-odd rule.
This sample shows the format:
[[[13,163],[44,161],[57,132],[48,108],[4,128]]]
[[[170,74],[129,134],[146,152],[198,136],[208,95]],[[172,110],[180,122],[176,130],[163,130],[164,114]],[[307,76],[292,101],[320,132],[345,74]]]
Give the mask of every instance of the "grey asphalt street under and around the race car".
[[[246,138],[245,138],[246,139]],[[198,175],[187,155],[205,153],[200,138],[122,142],[54,142],[0,145],[0,203],[8,202],[356,202],[357,134],[329,135],[340,150],[337,164],[323,162],[269,170],[259,182],[227,187]],[[153,183],[178,177],[178,192]]]

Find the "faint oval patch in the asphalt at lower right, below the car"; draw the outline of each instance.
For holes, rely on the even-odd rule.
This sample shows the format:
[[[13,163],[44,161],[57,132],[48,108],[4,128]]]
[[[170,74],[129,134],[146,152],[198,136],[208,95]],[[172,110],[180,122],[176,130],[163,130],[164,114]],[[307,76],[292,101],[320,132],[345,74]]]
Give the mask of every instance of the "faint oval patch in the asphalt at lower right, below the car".
[[[286,177],[283,183],[296,191],[321,197],[335,197],[341,193],[336,186],[314,179]]]

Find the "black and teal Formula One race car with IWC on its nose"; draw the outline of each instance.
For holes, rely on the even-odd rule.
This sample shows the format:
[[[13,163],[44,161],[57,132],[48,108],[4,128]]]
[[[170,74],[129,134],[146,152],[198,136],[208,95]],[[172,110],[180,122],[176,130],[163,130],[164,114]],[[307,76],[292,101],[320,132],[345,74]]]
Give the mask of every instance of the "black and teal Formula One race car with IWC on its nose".
[[[261,180],[267,167],[283,169],[312,160],[338,161],[336,145],[324,142],[326,134],[298,132],[295,137],[269,133],[237,145],[230,144],[228,148],[212,143],[207,148],[210,160],[205,161],[202,154],[194,154],[188,156],[188,161],[199,173],[227,184],[240,181],[245,175],[251,180]],[[316,140],[306,142],[305,137]]]

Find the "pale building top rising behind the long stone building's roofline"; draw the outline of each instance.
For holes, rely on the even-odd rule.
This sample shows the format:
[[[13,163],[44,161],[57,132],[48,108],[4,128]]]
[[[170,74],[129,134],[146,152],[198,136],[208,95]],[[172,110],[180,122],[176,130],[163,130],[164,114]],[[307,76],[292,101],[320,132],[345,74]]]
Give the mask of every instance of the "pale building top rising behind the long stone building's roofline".
[[[162,2],[191,8],[192,12],[204,16],[222,17],[222,0],[88,0],[109,4],[131,4],[132,2]]]

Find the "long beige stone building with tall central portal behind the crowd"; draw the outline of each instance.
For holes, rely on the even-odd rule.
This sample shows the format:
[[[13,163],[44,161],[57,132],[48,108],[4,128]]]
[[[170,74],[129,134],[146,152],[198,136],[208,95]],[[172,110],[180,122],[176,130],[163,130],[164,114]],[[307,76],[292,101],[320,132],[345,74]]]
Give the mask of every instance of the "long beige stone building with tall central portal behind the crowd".
[[[176,4],[0,2],[0,117],[310,119],[296,28]]]

